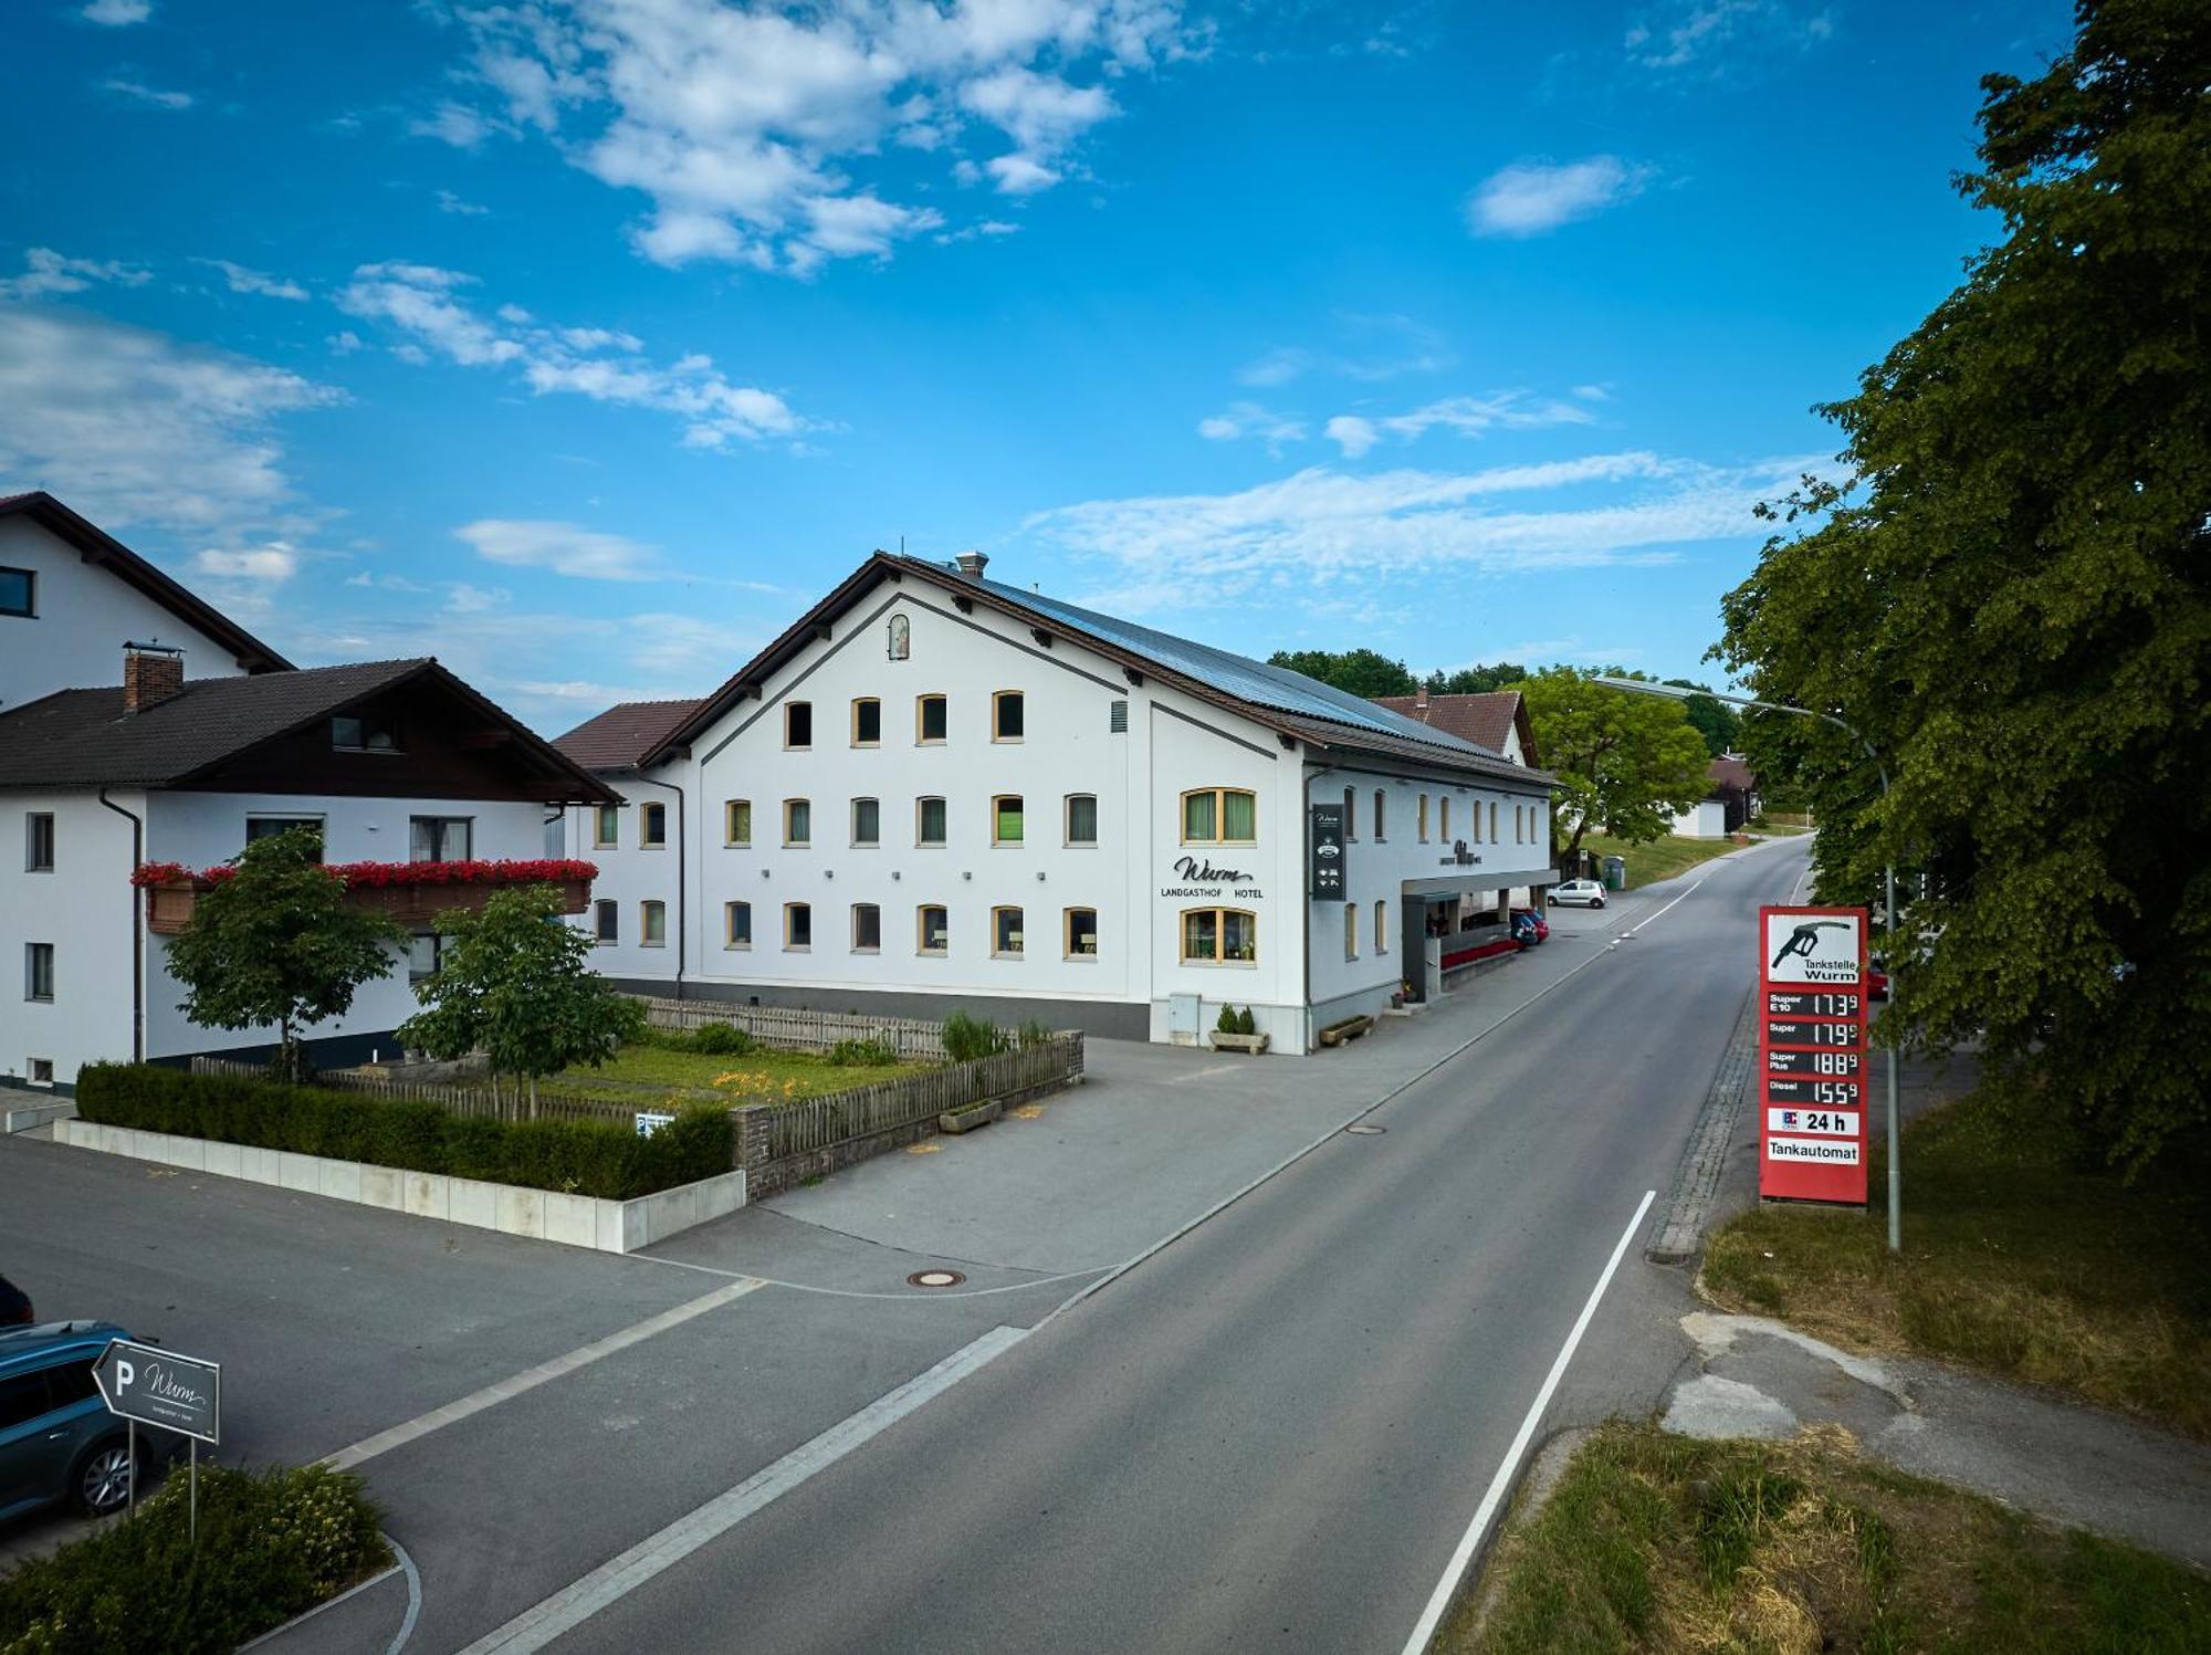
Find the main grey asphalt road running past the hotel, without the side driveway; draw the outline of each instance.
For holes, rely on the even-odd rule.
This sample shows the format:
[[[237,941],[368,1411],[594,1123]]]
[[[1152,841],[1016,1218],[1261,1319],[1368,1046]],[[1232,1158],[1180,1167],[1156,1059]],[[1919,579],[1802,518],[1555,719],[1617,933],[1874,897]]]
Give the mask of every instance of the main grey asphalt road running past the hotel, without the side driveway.
[[[1680,881],[1386,1133],[1331,1139],[551,1646],[1400,1651],[1669,1190],[1751,912],[1802,867]],[[1658,1401],[1678,1290],[1630,1248],[1550,1425]]]

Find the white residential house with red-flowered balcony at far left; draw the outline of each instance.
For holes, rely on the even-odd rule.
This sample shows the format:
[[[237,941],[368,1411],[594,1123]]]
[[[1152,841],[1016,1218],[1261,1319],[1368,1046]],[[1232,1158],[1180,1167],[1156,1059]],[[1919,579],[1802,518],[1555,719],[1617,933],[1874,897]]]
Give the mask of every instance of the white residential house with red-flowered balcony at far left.
[[[46,496],[0,500],[0,544],[33,575],[0,602],[0,1086],[274,1044],[184,1020],[144,863],[203,870],[294,825],[332,863],[542,858],[548,812],[615,797],[431,659],[298,670],[197,600],[148,613],[181,589]],[[429,929],[394,949],[307,1031],[316,1058],[389,1051],[436,956]]]

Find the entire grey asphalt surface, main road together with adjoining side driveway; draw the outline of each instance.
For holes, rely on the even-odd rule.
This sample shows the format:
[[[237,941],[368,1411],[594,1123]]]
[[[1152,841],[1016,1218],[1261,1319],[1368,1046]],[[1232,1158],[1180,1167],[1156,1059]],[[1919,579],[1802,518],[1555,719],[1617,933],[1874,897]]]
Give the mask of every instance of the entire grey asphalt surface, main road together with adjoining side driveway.
[[[1298,1120],[1333,1122],[1488,1029],[1375,1111],[1384,1133],[1327,1139],[1057,1314],[1097,1274],[1055,1270],[1125,1259],[1190,1197],[1114,1206],[1070,1144],[1052,1246],[1017,1246],[1044,1226],[1006,1215],[949,1255],[960,1294],[904,1288],[984,1239],[918,1221],[913,1193],[955,1157],[968,1179],[1037,1159],[1044,1201],[1075,1131],[1048,1122],[856,1168],[880,1201],[750,1208],[632,1259],[0,1142],[0,1259],[49,1312],[223,1359],[223,1458],[418,1429],[363,1465],[420,1564],[409,1651],[1397,1651],[1645,1190],[1669,1190],[1749,989],[1751,909],[1802,865],[1775,845],[1559,914],[1539,956],[1369,1051],[1141,1053],[1192,1084],[1052,1113],[1112,1137],[1123,1111],[1205,1111],[1274,1073],[1285,1111],[1302,1089]],[[1683,1299],[1630,1248],[1545,1429],[1654,1407],[1689,1356]],[[964,1372],[964,1350],[997,1354]],[[537,1363],[557,1372],[509,1392]],[[940,1394],[902,1414],[929,1374]],[[272,1655],[385,1651],[405,1602],[391,1580]]]

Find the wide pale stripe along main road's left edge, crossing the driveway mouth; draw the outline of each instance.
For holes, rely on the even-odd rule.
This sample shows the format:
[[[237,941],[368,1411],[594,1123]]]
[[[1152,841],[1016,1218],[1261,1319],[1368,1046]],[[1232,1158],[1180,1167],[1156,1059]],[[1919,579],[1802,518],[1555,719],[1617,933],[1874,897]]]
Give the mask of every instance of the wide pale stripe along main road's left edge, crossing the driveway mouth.
[[[677,1518],[659,1533],[646,1536],[619,1558],[608,1558],[581,1580],[570,1582],[511,1622],[478,1637],[460,1655],[531,1655],[581,1626],[608,1604],[630,1595],[666,1569],[683,1562],[699,1547],[719,1540],[761,1507],[778,1500],[807,1478],[827,1471],[856,1447],[891,1429],[907,1414],[951,1389],[984,1363],[1028,1339],[1026,1328],[993,1328],[975,1343],[955,1350],[926,1374],[918,1374],[895,1392],[878,1396],[858,1414],[831,1425],[767,1469],[719,1493],[690,1516]]]

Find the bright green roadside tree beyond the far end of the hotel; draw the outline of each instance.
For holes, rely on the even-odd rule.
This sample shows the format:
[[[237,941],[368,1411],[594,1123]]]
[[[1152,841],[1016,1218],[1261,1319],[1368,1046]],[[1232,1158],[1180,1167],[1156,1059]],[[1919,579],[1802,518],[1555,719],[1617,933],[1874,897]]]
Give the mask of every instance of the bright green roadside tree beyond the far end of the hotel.
[[[1680,701],[1592,684],[1572,666],[1510,688],[1528,699],[1534,748],[1559,777],[1559,816],[1574,823],[1568,856],[1592,828],[1614,839],[1658,839],[1676,812],[1711,792],[1705,737]]]

